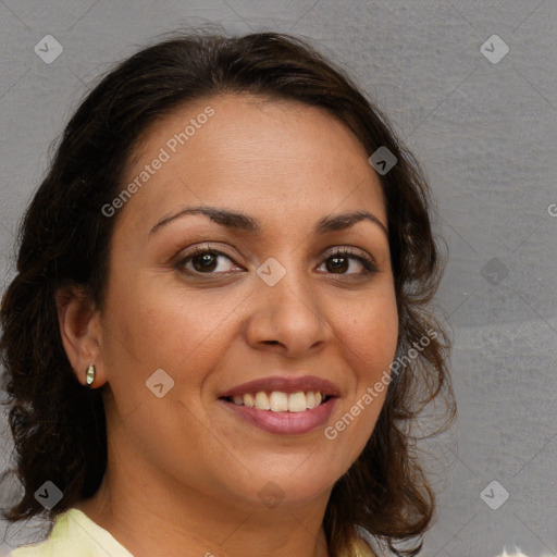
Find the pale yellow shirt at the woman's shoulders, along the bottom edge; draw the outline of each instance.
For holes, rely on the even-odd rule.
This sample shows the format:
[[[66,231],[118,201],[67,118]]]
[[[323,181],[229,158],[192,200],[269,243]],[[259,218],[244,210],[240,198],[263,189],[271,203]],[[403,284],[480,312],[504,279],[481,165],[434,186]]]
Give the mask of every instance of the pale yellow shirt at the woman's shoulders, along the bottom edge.
[[[14,549],[8,557],[134,557],[110,532],[87,515],[71,508],[54,519],[44,542]],[[346,557],[373,557],[368,544],[358,540]]]

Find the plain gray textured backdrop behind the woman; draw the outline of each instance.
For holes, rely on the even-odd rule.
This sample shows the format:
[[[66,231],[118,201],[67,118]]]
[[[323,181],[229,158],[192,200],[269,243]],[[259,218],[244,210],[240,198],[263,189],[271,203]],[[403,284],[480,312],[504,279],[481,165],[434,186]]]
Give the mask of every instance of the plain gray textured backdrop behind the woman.
[[[88,84],[156,35],[205,22],[310,38],[376,99],[432,184],[459,417],[424,446],[440,507],[422,555],[555,555],[555,0],[0,0],[2,289],[16,223]],[[494,34],[510,49],[498,63],[481,51]],[[63,46],[51,64],[34,51],[46,35]],[[32,525],[2,527],[0,555]]]

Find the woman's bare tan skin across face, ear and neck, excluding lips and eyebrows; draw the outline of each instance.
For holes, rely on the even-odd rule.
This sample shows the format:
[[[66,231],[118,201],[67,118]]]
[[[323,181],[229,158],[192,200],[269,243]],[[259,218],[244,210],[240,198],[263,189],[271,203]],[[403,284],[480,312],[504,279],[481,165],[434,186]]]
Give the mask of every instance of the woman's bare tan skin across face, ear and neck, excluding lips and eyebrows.
[[[352,133],[320,108],[238,95],[202,99],[157,122],[129,161],[126,184],[206,107],[214,115],[178,146],[113,216],[106,306],[60,290],[60,330],[85,384],[104,385],[109,463],[94,497],[77,504],[136,557],[325,557],[322,527],[333,484],[371,435],[386,389],[333,441],[318,428],[268,433],[219,396],[270,375],[318,375],[341,396],[325,424],[362,399],[393,361],[397,310],[387,235],[363,220],[314,235],[318,220],[367,210],[386,228],[379,176]],[[262,232],[227,230],[202,214],[160,226],[164,215],[207,205],[244,212]],[[208,243],[212,275],[189,260]],[[368,253],[376,271],[332,248]],[[275,258],[285,276],[256,273]],[[230,258],[230,259],[228,259]],[[163,369],[162,398],[146,381]],[[258,493],[274,482],[283,499]]]

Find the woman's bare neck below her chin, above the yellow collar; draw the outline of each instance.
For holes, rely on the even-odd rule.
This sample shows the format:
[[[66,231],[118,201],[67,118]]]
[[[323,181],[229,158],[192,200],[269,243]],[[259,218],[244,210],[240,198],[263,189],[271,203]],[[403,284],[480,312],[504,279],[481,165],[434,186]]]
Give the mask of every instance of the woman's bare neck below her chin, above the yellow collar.
[[[250,508],[183,484],[141,482],[134,472],[121,474],[109,466],[95,496],[75,505],[134,557],[329,556],[322,527],[329,493]]]

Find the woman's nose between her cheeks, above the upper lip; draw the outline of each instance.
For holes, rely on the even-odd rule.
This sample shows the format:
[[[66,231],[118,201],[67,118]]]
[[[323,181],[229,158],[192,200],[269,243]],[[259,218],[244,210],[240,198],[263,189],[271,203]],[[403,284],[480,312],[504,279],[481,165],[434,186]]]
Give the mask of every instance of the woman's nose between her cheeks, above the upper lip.
[[[327,305],[311,284],[315,281],[311,274],[296,271],[294,263],[282,267],[286,273],[273,286],[272,282],[256,278],[246,339],[253,348],[300,358],[321,349],[333,337]]]

